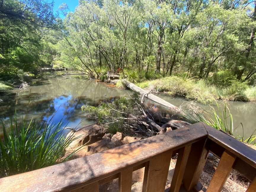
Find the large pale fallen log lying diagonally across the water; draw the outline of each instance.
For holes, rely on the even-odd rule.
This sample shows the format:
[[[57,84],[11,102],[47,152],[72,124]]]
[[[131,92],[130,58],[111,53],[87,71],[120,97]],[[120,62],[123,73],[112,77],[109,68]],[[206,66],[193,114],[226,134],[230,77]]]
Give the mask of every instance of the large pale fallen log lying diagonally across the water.
[[[178,116],[183,116],[184,112],[182,109],[176,107],[175,105],[172,105],[171,103],[161,99],[160,97],[157,97],[156,95],[150,94],[148,91],[138,87],[137,85],[123,79],[122,80],[123,84],[128,87],[129,89],[132,89],[133,91],[139,93],[143,99],[146,97],[150,100],[152,100],[155,103],[158,103],[160,105],[163,105],[164,107],[168,108],[170,113],[178,115]]]

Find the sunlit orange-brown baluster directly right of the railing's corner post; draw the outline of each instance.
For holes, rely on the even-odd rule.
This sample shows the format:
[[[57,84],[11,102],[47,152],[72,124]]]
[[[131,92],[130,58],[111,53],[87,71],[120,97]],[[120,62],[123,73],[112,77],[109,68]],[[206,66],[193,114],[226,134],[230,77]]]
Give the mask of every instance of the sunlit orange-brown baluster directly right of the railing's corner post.
[[[223,185],[225,184],[228,175],[232,171],[233,164],[236,160],[236,157],[230,155],[227,151],[224,151],[218,167],[212,177],[212,180],[207,188],[207,192],[217,192],[221,191]]]

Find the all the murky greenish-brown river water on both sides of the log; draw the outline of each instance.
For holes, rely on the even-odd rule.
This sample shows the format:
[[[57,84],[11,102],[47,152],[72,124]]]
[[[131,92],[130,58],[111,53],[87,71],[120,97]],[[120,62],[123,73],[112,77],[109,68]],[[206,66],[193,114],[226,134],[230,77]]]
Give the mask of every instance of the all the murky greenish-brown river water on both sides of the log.
[[[84,76],[54,77],[39,79],[26,89],[15,89],[0,97],[0,119],[8,121],[17,110],[17,119],[28,114],[28,119],[40,118],[41,120],[57,123],[63,119],[68,127],[79,128],[92,123],[84,119],[81,106],[84,104],[97,106],[101,101],[113,100],[122,95],[129,96],[131,91],[121,90],[109,84],[85,79]],[[186,102],[183,98],[159,95],[173,105],[180,106]],[[2,100],[2,101],[1,101]],[[221,113],[224,106],[223,101],[217,101],[214,108]],[[200,105],[209,109],[208,105]],[[256,103],[228,102],[229,109],[233,115],[234,127],[240,123],[244,126],[244,137],[248,138],[256,129]],[[242,135],[241,126],[235,129],[235,135]],[[2,130],[0,128],[0,135]]]

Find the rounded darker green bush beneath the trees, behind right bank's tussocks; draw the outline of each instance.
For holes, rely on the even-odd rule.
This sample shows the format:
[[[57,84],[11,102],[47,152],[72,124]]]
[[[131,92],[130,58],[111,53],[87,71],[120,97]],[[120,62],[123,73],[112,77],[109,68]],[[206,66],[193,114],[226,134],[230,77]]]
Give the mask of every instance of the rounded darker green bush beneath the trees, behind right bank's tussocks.
[[[230,71],[218,71],[209,78],[209,82],[217,87],[227,87],[236,80],[234,74]]]

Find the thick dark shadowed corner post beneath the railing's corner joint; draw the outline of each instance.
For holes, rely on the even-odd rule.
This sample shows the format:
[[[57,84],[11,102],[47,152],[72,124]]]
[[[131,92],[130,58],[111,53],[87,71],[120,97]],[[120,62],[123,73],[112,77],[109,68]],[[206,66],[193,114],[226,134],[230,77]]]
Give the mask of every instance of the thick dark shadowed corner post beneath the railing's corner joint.
[[[207,160],[208,150],[205,147],[206,139],[193,143],[188,156],[183,185],[187,191],[191,191],[198,183]]]

